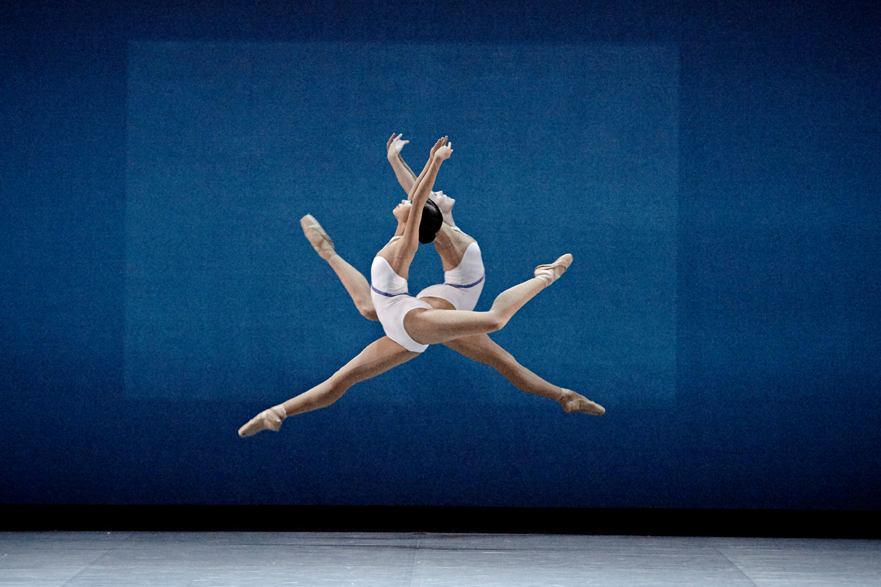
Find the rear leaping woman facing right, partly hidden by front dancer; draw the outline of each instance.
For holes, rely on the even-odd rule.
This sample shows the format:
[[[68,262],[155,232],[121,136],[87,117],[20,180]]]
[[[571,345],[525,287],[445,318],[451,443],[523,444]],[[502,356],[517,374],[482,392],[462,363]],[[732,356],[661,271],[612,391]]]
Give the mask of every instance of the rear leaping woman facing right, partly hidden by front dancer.
[[[386,150],[398,182],[404,191],[410,192],[416,181],[416,175],[401,156],[403,145],[408,143],[409,141],[401,140],[401,135],[392,134],[386,143]],[[433,308],[474,309],[485,283],[484,264],[478,241],[455,226],[452,213],[455,199],[448,197],[442,191],[433,191],[430,200],[437,204],[443,215],[443,226],[434,239],[434,247],[441,256],[444,283],[426,287],[416,297],[427,301]],[[378,320],[370,298],[370,286],[360,271],[337,254],[333,241],[315,218],[307,215],[300,220],[300,225],[315,251],[337,272],[359,312],[369,320]],[[510,353],[486,334],[456,338],[443,344],[471,360],[494,368],[518,390],[553,399],[567,413],[581,412],[601,416],[605,412],[603,406],[581,394],[544,381],[518,363]]]

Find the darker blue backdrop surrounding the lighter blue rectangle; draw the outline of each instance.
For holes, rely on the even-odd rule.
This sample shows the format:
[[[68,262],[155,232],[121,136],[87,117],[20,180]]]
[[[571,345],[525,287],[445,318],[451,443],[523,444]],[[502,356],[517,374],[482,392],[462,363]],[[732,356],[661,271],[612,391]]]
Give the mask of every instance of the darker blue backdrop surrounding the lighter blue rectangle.
[[[877,509],[877,10],[4,4],[0,499]],[[244,442],[248,398],[126,398],[129,43],[194,40],[677,47],[675,401],[566,418],[463,387]]]

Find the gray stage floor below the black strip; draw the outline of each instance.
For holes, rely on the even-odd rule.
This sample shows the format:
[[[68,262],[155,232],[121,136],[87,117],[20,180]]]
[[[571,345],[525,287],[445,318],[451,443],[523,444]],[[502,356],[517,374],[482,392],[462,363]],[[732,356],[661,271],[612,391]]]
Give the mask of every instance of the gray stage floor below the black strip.
[[[0,585],[881,586],[881,541],[4,532]]]

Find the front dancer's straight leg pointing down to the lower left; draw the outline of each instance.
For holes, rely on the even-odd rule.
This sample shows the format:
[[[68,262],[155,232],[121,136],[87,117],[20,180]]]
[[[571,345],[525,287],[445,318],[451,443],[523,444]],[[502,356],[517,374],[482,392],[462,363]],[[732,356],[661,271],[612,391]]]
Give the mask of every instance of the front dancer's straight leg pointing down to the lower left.
[[[286,417],[327,407],[341,398],[355,383],[385,373],[390,368],[397,367],[418,355],[419,353],[408,351],[391,338],[382,337],[368,345],[327,381],[315,385],[311,390],[304,391],[295,398],[258,413],[239,428],[239,435],[251,436],[263,430],[278,432],[281,421]]]

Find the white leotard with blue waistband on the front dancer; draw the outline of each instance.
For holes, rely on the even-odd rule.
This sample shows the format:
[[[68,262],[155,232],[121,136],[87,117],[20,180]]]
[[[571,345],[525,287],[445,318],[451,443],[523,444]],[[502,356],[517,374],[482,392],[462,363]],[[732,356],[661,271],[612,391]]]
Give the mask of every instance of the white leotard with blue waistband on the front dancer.
[[[426,301],[417,300],[407,291],[407,280],[391,268],[381,256],[374,257],[370,267],[370,298],[374,301],[386,336],[408,351],[422,353],[428,345],[420,345],[403,330],[403,316],[414,308],[431,308]]]

